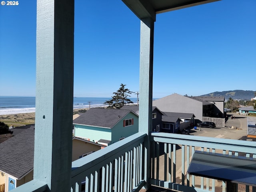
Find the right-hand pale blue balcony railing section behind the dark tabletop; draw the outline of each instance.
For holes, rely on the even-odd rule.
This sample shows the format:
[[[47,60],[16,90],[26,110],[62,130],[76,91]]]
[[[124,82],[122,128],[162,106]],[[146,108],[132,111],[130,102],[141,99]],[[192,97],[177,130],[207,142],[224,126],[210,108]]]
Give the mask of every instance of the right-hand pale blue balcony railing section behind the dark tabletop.
[[[256,161],[256,142],[211,138],[203,136],[153,132],[151,140],[152,173],[150,184],[178,191],[215,192],[215,188],[226,191],[226,183],[187,174],[192,155],[196,150],[206,154],[220,153],[222,156],[246,158]],[[255,186],[246,186],[256,192]],[[219,189],[218,189],[219,190]],[[234,191],[235,192],[235,191]],[[237,191],[236,191],[237,192]]]

